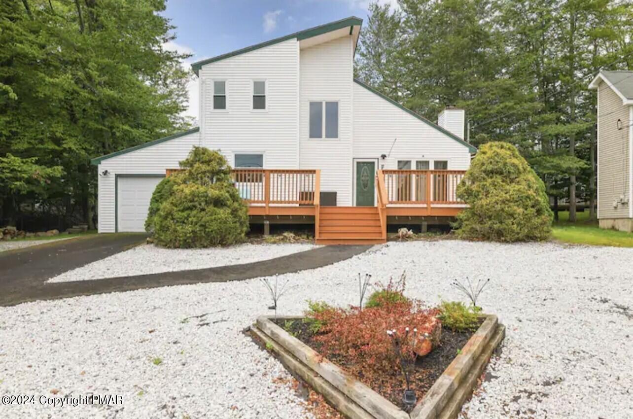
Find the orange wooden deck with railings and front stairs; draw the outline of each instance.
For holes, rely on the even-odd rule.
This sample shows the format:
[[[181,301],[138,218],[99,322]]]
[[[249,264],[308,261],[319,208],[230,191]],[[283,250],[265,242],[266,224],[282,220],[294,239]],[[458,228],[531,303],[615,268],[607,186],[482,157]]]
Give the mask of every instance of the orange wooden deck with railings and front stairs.
[[[177,172],[168,169],[166,175]],[[379,170],[376,206],[321,206],[320,170],[234,169],[235,187],[250,216],[314,217],[318,244],[387,240],[387,217],[453,217],[463,170]]]

